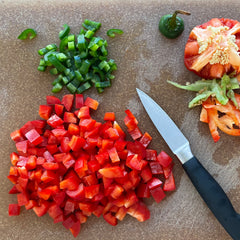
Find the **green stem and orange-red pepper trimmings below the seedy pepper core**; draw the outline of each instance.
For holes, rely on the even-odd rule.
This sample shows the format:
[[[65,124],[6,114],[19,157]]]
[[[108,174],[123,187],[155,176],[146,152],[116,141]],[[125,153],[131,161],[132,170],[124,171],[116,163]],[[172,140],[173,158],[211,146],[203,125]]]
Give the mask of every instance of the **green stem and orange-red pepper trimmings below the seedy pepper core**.
[[[168,81],[175,87],[197,92],[189,108],[202,105],[200,121],[207,123],[214,142],[220,139],[218,128],[232,136],[240,136],[240,94],[237,78],[224,75],[221,79],[199,80],[188,85]]]

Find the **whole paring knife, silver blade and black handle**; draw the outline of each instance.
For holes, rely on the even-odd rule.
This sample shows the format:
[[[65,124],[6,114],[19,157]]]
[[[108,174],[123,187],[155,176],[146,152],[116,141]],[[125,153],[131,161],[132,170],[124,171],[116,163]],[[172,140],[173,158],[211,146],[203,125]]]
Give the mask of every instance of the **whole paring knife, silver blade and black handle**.
[[[167,113],[146,93],[139,89],[137,93],[155,127],[181,161],[185,172],[209,209],[229,235],[234,240],[240,240],[240,215],[234,210],[221,186],[192,154],[189,141]]]

